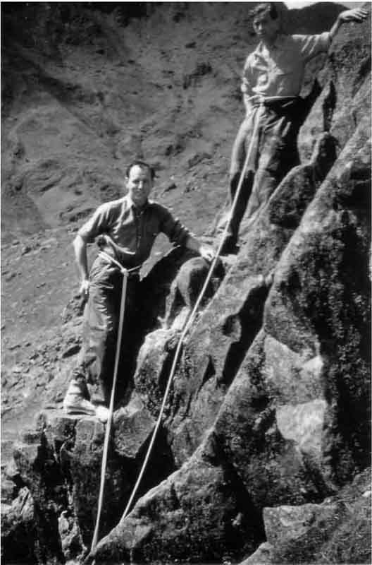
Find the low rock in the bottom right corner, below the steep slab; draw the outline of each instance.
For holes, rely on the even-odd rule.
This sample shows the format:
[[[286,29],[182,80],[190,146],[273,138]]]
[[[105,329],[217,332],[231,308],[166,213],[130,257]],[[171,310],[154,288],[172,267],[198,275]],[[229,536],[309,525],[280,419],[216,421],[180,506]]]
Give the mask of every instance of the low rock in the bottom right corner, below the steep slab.
[[[267,542],[241,565],[367,563],[371,551],[371,472],[321,504],[263,509]],[[354,537],[352,530],[358,526]]]

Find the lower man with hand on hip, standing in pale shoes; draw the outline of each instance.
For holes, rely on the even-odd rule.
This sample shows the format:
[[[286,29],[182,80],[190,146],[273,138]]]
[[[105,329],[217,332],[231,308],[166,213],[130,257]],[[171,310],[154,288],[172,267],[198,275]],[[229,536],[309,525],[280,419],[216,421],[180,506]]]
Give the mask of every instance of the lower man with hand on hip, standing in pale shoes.
[[[108,418],[106,405],[113,378],[123,277],[120,266],[128,270],[125,328],[127,333],[133,333],[140,268],[160,232],[207,261],[213,258],[211,247],[200,244],[167,208],[148,200],[153,183],[154,169],[143,161],[132,162],[126,172],[128,194],[99,206],[73,242],[82,280],[80,292],[87,297],[87,304],[80,359],[63,400],[63,408],[69,414],[96,415],[103,422]],[[87,244],[96,237],[103,252],[88,275]],[[92,398],[87,383],[94,390]]]

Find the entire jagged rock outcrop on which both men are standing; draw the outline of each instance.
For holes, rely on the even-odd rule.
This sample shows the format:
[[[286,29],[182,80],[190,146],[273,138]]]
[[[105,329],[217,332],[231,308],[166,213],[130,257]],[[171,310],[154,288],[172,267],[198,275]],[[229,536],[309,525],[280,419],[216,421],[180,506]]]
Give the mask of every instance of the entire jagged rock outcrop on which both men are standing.
[[[240,253],[223,262],[187,335],[149,468],[122,518],[190,308],[169,302],[188,288],[188,268],[176,280],[187,257],[168,256],[149,273],[144,284],[158,290],[130,398],[113,421],[97,563],[316,563],[318,544],[336,543],[354,519],[340,489],[370,460],[369,37],[367,23],[340,33],[300,133],[303,164],[254,222],[243,220]],[[198,69],[187,88],[211,73]],[[161,329],[155,310],[166,315]],[[23,549],[31,559],[81,557],[89,547],[103,437],[99,422],[49,410],[16,446],[18,489],[27,491],[5,515],[22,525],[32,513]],[[363,493],[349,500],[364,511],[362,476]],[[6,543],[17,528],[5,530]]]

